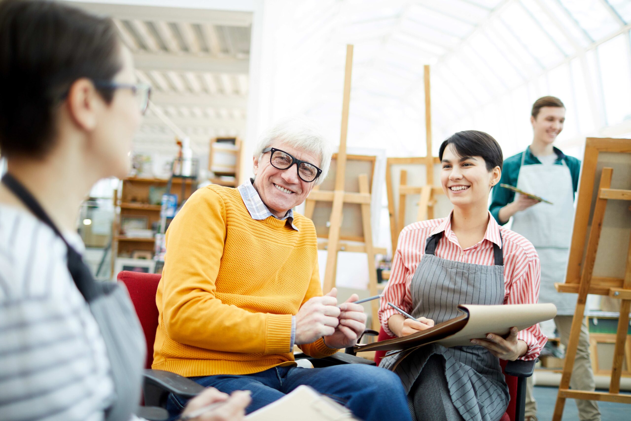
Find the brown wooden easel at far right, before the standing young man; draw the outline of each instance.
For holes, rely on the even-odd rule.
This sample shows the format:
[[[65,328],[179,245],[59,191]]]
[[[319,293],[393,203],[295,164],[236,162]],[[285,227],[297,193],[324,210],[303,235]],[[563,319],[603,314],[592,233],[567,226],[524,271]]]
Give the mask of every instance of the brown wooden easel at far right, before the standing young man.
[[[557,404],[555,405],[552,418],[553,421],[561,420],[565,399],[567,398],[631,403],[631,395],[620,394],[620,376],[622,375],[624,348],[629,323],[628,315],[631,309],[631,238],[628,243],[626,259],[622,259],[623,261],[626,260],[624,278],[593,276],[608,201],[631,201],[631,189],[610,188],[614,172],[614,169],[611,167],[604,166],[601,170],[598,191],[595,195],[596,201],[593,217],[591,219],[589,239],[587,239],[587,247],[584,253],[587,226],[590,223],[589,214],[591,211],[594,184],[596,175],[598,175],[597,166],[599,163],[599,153],[608,153],[610,155],[611,153],[631,153],[631,139],[588,138],[586,141],[567,276],[565,283],[555,283],[557,291],[578,293],[579,297],[574,312],[574,319],[572,320],[569,343],[565,350],[565,364],[563,365],[563,375],[558,389]],[[624,206],[626,208],[626,205]],[[620,206],[618,206],[618,211],[620,211]],[[631,208],[629,208],[628,211],[631,211]],[[625,217],[631,220],[631,213],[627,215],[623,210],[622,218]],[[618,219],[619,218],[616,218],[616,222],[618,222]],[[579,335],[581,333],[587,294],[608,295],[609,297],[622,300],[620,305],[620,317],[618,319],[618,330],[616,333],[613,366],[611,367],[611,382],[608,392],[569,389],[575,355],[579,344]]]

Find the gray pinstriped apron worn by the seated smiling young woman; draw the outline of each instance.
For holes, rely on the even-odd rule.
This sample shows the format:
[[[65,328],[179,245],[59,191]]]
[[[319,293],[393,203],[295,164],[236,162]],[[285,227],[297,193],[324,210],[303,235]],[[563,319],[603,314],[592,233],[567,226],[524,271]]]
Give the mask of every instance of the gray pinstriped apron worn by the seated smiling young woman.
[[[435,250],[442,235],[439,232],[427,239],[425,255],[412,277],[411,315],[427,317],[439,324],[459,314],[458,304],[502,304],[504,257],[500,247],[493,244],[493,266],[441,259],[435,256]],[[509,390],[500,361],[484,347],[445,348],[432,343],[411,353],[398,365],[405,353],[390,353],[395,355],[386,354],[380,367],[394,367],[408,393],[429,357],[441,355],[451,401],[466,421],[498,420],[508,406]]]

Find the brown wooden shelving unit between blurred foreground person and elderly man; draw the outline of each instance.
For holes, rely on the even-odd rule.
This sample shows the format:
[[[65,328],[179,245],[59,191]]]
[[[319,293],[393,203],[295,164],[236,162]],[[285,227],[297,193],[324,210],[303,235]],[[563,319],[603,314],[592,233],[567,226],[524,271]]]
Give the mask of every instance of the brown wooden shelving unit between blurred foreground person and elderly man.
[[[136,254],[153,257],[155,251],[155,233],[160,225],[162,195],[177,196],[177,205],[182,199],[188,199],[197,187],[193,178],[174,177],[171,189],[167,192],[168,179],[126,177],[122,179],[120,189],[114,192],[116,209],[112,222],[112,274],[118,258],[133,258]],[[183,197],[182,197],[183,196]],[[169,222],[172,218],[166,218]],[[168,224],[167,224],[168,225]]]

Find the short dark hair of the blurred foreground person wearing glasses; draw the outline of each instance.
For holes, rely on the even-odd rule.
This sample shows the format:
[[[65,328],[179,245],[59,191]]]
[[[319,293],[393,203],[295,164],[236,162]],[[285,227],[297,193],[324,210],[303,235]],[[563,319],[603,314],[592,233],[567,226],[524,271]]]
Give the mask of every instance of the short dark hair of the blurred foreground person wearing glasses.
[[[56,109],[74,81],[110,81],[122,68],[114,22],[66,4],[0,1],[0,151],[44,157]],[[106,102],[114,92],[98,91]]]

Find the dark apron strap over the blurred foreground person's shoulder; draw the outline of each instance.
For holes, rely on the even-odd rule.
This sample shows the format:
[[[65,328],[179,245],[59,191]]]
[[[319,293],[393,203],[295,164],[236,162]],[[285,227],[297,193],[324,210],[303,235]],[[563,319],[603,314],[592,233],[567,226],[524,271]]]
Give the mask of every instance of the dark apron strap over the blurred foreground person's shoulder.
[[[81,254],[68,244],[68,241],[66,241],[64,236],[61,235],[61,232],[59,232],[59,229],[52,220],[50,220],[50,217],[44,211],[44,208],[42,208],[42,206],[38,203],[37,199],[35,199],[26,187],[24,187],[15,179],[15,177],[13,177],[13,175],[9,173],[4,174],[2,182],[11,192],[13,192],[13,194],[15,194],[15,196],[17,196],[18,199],[20,199],[22,203],[24,203],[25,206],[27,206],[28,210],[30,210],[33,215],[37,216],[40,221],[48,225],[57,237],[61,238],[61,240],[66,244],[66,248],[68,249],[66,263],[68,265],[68,271],[70,272],[76,287],[81,292],[81,295],[83,295],[83,298],[85,298],[87,302],[90,302],[98,297],[98,295],[101,295],[100,290],[98,290],[95,285],[95,280],[90,273],[90,269],[88,269],[88,266],[83,263]]]

